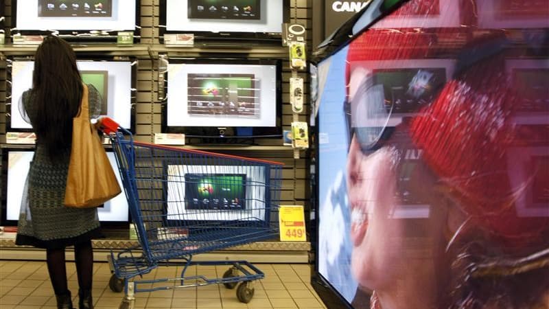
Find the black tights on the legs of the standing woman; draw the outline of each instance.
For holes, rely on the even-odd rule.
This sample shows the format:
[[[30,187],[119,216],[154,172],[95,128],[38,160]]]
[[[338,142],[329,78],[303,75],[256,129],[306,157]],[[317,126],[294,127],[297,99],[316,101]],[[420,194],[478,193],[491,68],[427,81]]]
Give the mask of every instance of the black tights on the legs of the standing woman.
[[[78,286],[82,290],[91,290],[93,276],[93,249],[91,241],[75,244],[74,257]],[[65,248],[46,250],[47,270],[56,295],[67,293],[67,268],[65,267]]]

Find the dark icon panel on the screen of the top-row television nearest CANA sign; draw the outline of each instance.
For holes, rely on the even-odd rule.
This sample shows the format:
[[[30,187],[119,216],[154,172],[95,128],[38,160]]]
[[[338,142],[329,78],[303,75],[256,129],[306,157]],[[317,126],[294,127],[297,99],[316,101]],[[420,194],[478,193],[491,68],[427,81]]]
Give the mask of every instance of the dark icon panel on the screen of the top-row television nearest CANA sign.
[[[260,0],[189,0],[189,19],[261,20]]]

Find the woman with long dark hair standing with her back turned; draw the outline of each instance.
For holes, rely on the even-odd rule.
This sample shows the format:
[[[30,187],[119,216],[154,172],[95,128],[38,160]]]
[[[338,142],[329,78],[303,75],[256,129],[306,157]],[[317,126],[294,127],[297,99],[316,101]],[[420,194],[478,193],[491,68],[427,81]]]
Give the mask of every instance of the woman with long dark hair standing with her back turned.
[[[97,117],[102,100],[97,89],[87,87],[90,117]],[[93,308],[91,239],[101,236],[97,209],[64,205],[73,117],[80,112],[84,90],[71,46],[56,36],[45,38],[34,57],[32,89],[23,93],[20,104],[21,115],[36,133],[36,150],[23,193],[16,244],[46,249],[58,308],[73,308],[65,268],[68,246],[74,246],[79,308]]]

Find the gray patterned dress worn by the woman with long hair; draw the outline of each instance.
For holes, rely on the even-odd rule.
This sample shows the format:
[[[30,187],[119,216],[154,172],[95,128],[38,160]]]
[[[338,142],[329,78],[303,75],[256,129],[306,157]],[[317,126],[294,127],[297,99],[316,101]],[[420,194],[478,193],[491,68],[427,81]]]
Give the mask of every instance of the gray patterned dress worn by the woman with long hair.
[[[88,88],[90,117],[97,117],[101,96],[92,85]],[[23,93],[23,108],[27,115],[34,115],[35,105],[30,97],[30,90]],[[70,150],[52,162],[39,139],[36,142],[21,201],[16,244],[58,249],[102,237],[97,208],[63,205],[69,159]]]

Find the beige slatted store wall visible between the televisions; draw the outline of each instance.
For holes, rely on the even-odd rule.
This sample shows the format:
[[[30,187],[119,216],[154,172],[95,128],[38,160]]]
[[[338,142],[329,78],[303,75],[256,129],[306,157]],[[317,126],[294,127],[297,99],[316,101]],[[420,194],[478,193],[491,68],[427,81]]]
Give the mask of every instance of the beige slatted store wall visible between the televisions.
[[[6,27],[11,25],[11,3],[12,0],[1,1],[5,2],[5,14]],[[141,40],[135,45],[147,45],[149,47],[156,46],[162,47],[159,43],[159,2],[160,0],[141,0]],[[300,23],[305,25],[307,29],[307,52],[310,54],[312,50],[312,7],[314,0],[290,0],[290,23]],[[6,43],[9,43],[9,38],[6,38]],[[240,49],[240,50],[235,50]],[[256,52],[255,49],[260,49],[260,52]],[[1,46],[0,46],[1,52]],[[172,52],[174,49],[172,48]],[[176,49],[174,53],[178,56],[198,56],[207,54],[208,56],[215,57],[231,57],[235,56],[234,52],[238,53],[238,56],[250,56],[255,55],[262,58],[281,59],[282,60],[282,126],[283,130],[290,130],[291,123],[293,121],[308,122],[309,120],[309,79],[307,71],[303,70],[299,72],[299,77],[305,80],[304,84],[304,108],[303,112],[299,115],[292,113],[292,106],[290,105],[290,86],[288,80],[292,77],[290,70],[290,64],[288,62],[288,49],[287,47],[272,46],[272,53],[265,52],[265,47],[242,47],[237,46],[234,48],[217,48],[217,47],[202,47],[198,50],[193,49],[193,52],[187,52],[185,47]],[[85,52],[78,52],[77,56],[81,56]],[[27,56],[32,56],[34,53],[30,53]],[[154,139],[154,133],[161,133],[161,104],[158,100],[158,79],[156,72],[156,60],[157,54],[141,54],[132,55],[131,52],[124,52],[124,47],[119,47],[119,50],[113,51],[110,49],[108,52],[100,53],[104,55],[116,54],[126,56],[137,56],[138,71],[137,71],[137,106],[136,106],[136,134],[135,139],[138,141],[152,142]],[[5,54],[0,53],[3,58],[0,59],[0,144],[5,144],[6,133],[6,61]],[[272,57],[275,58],[272,58]],[[225,152],[233,155],[243,155],[246,157],[253,157],[257,159],[268,159],[272,161],[279,161],[284,163],[283,168],[283,183],[281,190],[281,205],[304,205],[305,206],[305,218],[308,218],[309,209],[312,205],[309,203],[309,189],[307,180],[307,170],[309,163],[307,157],[309,153],[305,150],[299,152],[299,159],[294,156],[294,150],[291,146],[282,146],[281,138],[264,138],[255,139],[257,146],[214,146],[209,149],[207,146],[201,146],[194,144],[197,148],[203,150],[211,150],[214,152]],[[273,147],[274,146],[274,147]],[[280,146],[280,147],[277,147]]]

